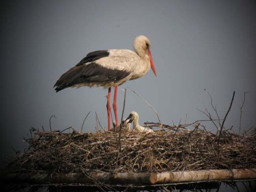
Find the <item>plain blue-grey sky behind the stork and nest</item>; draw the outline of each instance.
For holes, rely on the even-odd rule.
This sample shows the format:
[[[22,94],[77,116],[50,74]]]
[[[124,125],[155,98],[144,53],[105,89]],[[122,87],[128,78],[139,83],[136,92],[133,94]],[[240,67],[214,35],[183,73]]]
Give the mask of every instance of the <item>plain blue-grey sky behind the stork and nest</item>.
[[[21,150],[30,126],[95,130],[95,111],[107,127],[107,89],[64,89],[53,85],[88,52],[133,49],[133,39],[146,35],[157,70],[119,87],[121,117],[124,92],[139,93],[158,112],[161,122],[178,124],[207,119],[197,108],[214,111],[204,89],[224,117],[236,95],[225,126],[239,129],[239,105],[245,101],[242,128],[256,125],[255,1],[15,1],[2,6],[1,154],[11,145]],[[113,89],[112,89],[113,96]],[[112,101],[112,98],[111,98]],[[127,90],[125,116],[136,111],[140,124],[157,121],[153,110]],[[208,130],[216,131],[211,123]]]

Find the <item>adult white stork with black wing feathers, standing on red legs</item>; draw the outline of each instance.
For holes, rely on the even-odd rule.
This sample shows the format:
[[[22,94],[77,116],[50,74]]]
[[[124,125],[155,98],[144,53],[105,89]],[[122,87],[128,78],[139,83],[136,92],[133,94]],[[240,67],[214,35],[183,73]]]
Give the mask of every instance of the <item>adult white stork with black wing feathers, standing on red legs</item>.
[[[135,52],[127,49],[108,49],[90,52],[75,67],[64,73],[54,85],[56,92],[69,87],[99,87],[108,88],[108,130],[110,130],[110,93],[115,87],[113,109],[118,124],[116,96],[118,86],[140,78],[148,73],[151,67],[157,76],[150,52],[150,41],[144,35],[133,41]]]

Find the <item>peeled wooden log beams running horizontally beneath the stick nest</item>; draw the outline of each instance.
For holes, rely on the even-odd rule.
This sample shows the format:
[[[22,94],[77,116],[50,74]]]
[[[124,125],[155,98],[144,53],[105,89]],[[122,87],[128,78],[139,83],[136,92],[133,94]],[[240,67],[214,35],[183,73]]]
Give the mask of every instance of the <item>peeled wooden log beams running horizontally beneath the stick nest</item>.
[[[19,174],[1,173],[1,178],[6,183],[113,183],[113,184],[139,184],[157,185],[167,183],[188,183],[202,181],[236,181],[256,180],[256,169],[232,170],[196,170],[176,171],[163,173],[68,173],[68,174]]]

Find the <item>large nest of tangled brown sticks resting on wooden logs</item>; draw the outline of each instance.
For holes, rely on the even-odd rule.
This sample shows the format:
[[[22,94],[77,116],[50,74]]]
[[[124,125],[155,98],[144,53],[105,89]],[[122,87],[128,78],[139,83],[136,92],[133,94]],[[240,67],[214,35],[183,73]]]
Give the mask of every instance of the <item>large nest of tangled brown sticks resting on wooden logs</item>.
[[[19,173],[84,171],[163,172],[256,168],[256,130],[247,136],[214,134],[197,123],[193,129],[147,123],[153,133],[123,130],[96,133],[39,132],[24,139],[29,147],[8,166]]]

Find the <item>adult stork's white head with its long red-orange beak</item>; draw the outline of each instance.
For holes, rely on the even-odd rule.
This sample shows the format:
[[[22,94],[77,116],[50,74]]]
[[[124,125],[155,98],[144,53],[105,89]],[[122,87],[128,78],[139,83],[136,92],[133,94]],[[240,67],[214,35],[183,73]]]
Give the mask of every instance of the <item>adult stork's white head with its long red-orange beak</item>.
[[[155,64],[151,56],[150,47],[151,47],[150,41],[144,35],[140,35],[136,37],[133,41],[133,48],[140,57],[144,58],[145,55],[149,56],[151,69],[155,74],[155,76],[157,76],[157,71],[155,70]]]

